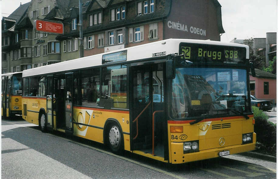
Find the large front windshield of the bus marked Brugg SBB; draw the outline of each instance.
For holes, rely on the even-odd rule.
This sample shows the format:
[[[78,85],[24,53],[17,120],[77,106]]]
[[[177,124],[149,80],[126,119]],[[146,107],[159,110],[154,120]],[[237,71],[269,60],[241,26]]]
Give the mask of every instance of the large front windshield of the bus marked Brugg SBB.
[[[172,81],[175,119],[212,118],[247,110],[246,70],[231,68],[176,68]]]

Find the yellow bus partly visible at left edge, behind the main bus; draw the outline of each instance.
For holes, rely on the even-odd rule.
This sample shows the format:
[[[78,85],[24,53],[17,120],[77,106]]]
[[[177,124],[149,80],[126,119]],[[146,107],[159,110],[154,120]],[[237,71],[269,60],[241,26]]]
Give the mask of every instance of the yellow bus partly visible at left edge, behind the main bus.
[[[14,117],[22,113],[22,72],[4,73],[1,88],[1,116]]]

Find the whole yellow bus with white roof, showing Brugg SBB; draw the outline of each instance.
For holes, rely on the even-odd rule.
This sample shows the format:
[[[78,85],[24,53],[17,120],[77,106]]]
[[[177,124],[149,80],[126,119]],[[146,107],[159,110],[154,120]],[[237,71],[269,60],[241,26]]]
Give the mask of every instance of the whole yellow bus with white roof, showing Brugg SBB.
[[[166,163],[251,151],[248,58],[242,44],[167,39],[24,70],[23,119]]]

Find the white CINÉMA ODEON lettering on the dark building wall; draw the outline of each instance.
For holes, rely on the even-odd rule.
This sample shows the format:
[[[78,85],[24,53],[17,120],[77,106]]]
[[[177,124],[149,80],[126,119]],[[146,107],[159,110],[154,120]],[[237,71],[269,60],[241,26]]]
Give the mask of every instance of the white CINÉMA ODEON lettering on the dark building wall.
[[[190,32],[190,33],[194,33],[197,35],[201,35],[201,36],[206,36],[206,30],[205,29],[201,29],[199,27],[187,27],[186,24],[182,24],[179,22],[173,22],[173,21],[168,21],[167,22],[167,26],[169,29],[175,29],[175,30],[180,30],[180,31],[184,31],[184,32]]]

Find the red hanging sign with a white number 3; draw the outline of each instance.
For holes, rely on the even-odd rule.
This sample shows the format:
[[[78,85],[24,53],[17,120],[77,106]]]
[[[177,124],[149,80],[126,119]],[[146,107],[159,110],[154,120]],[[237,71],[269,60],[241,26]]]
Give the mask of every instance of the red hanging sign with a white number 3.
[[[36,20],[36,30],[49,33],[64,33],[64,26],[62,23],[55,23],[43,20]]]

